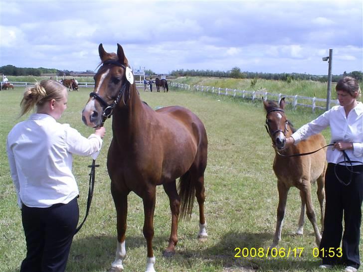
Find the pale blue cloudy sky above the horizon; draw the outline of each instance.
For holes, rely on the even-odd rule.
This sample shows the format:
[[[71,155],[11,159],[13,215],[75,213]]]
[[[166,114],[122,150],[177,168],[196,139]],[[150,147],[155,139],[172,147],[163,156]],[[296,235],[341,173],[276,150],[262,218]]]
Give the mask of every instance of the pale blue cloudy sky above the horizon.
[[[131,66],[325,75],[363,71],[362,0],[0,0],[0,66],[96,70],[98,45]]]

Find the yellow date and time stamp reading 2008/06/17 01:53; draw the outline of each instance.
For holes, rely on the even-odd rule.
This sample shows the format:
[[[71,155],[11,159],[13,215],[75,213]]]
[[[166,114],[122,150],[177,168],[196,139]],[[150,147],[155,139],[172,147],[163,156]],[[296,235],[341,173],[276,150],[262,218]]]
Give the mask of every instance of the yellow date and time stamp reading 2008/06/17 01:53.
[[[305,248],[298,247],[298,248],[235,248],[234,251],[236,254],[234,255],[234,258],[301,258],[301,255]],[[322,257],[342,257],[342,248],[329,248],[329,249],[319,249],[319,248],[313,248],[312,255],[314,258],[318,258],[319,255]]]

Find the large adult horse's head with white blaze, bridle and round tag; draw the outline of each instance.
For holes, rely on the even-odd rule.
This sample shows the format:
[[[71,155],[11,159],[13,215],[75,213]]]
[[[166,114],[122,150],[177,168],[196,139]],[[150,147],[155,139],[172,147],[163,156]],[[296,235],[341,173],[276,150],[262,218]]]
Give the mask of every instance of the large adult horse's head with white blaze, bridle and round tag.
[[[82,111],[82,120],[88,127],[100,127],[112,115],[114,107],[125,105],[133,75],[120,44],[117,54],[107,53],[102,43],[98,47],[101,67],[94,76],[95,88]],[[121,106],[122,106],[121,105]]]

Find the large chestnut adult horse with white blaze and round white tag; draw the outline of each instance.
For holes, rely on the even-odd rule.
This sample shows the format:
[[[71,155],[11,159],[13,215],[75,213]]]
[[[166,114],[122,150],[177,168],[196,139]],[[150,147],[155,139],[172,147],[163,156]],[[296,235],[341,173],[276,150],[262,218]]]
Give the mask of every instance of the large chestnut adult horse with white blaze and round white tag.
[[[99,127],[104,117],[112,118],[113,138],[107,168],[117,212],[117,250],[112,271],[123,270],[127,196],[133,191],[143,199],[147,242],[147,272],[154,272],[154,210],[156,186],[163,185],[170,200],[172,230],[165,257],[175,254],[178,220],[190,218],[194,195],[199,204],[200,239],[206,238],[204,219],[204,170],[207,136],[202,122],[189,110],[165,107],[154,111],[140,99],[121,45],[117,54],[98,51],[102,66],[94,76],[95,89],[82,112],[89,127]],[[179,192],[176,179],[179,180]]]

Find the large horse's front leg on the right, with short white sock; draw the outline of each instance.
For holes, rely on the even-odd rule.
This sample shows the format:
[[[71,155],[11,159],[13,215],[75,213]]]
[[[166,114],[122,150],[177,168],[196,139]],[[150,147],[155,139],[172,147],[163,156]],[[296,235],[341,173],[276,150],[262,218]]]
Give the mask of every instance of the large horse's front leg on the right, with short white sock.
[[[144,203],[144,228],[143,233],[148,247],[148,257],[146,260],[146,272],[155,272],[154,264],[155,257],[153,251],[153,238],[154,238],[154,211],[156,199],[156,186],[150,185],[143,196]]]

